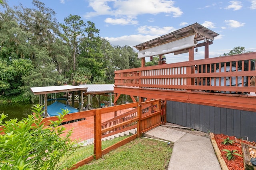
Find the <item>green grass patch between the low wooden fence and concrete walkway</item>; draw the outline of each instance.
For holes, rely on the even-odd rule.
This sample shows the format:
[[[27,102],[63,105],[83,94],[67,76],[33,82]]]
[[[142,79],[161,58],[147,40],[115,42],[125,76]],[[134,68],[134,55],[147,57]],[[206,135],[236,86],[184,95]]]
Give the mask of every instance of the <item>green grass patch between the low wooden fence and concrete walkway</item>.
[[[78,170],[166,170],[173,143],[138,138]]]

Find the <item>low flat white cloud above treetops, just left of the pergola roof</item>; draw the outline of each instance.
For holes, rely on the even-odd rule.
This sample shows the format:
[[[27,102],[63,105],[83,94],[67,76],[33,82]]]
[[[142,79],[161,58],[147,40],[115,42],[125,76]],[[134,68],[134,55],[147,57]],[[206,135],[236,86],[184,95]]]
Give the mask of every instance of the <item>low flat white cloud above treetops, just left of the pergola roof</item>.
[[[158,35],[142,35],[142,34],[138,34],[138,35],[124,35],[121,37],[104,37],[105,39],[107,39],[110,44],[112,45],[129,45],[131,47],[144,43],[146,41],[149,41],[151,39],[155,39],[159,37]]]

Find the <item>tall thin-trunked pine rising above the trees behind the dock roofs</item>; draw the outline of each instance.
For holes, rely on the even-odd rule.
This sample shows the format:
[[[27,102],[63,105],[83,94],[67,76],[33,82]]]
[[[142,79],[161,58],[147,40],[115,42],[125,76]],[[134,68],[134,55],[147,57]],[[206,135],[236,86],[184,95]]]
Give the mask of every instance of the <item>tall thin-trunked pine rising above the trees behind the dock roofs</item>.
[[[70,47],[72,49],[72,58],[73,58],[73,70],[76,70],[76,53],[78,47],[78,37],[82,37],[84,35],[86,23],[81,20],[80,16],[77,15],[69,15],[64,18],[65,24],[60,23],[64,34],[62,35],[63,39],[70,43]]]

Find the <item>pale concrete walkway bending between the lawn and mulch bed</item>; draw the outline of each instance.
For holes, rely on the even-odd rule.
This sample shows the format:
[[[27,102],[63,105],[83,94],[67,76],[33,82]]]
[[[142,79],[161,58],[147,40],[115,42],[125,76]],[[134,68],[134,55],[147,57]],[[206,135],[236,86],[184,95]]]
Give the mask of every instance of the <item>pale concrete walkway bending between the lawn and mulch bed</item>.
[[[143,136],[174,142],[168,170],[221,170],[209,138],[163,126]]]

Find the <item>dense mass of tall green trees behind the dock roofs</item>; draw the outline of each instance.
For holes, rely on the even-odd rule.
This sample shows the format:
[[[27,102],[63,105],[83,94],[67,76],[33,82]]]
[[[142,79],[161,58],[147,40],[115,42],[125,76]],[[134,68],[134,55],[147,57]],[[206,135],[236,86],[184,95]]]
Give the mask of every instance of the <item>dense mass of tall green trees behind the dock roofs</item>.
[[[6,0],[2,2],[1,100],[22,96],[34,102],[30,87],[110,84],[115,70],[141,65],[132,47],[112,46],[92,21],[85,23],[70,14],[59,24],[55,12],[39,0],[32,0],[32,8],[22,4],[10,8]]]

